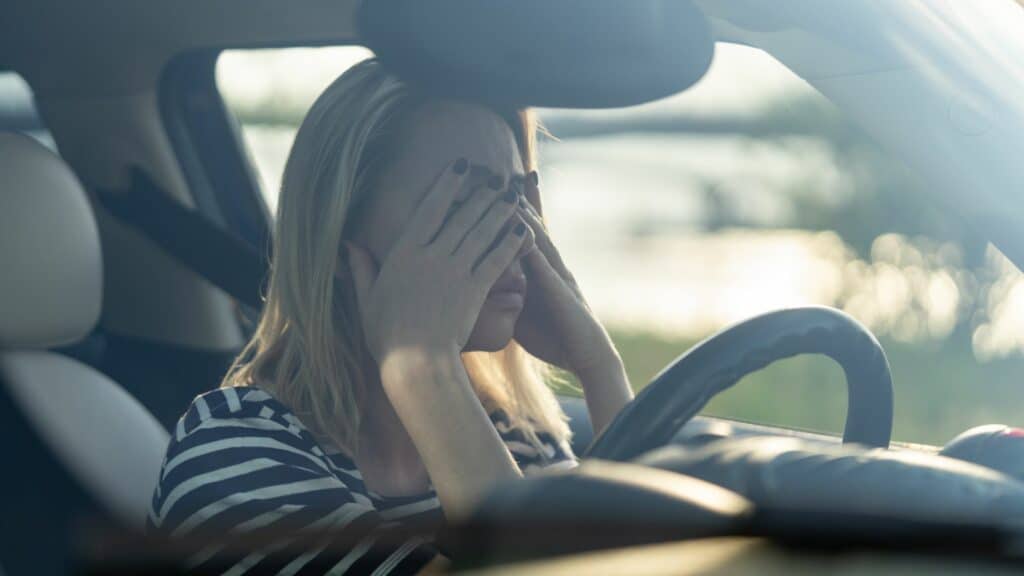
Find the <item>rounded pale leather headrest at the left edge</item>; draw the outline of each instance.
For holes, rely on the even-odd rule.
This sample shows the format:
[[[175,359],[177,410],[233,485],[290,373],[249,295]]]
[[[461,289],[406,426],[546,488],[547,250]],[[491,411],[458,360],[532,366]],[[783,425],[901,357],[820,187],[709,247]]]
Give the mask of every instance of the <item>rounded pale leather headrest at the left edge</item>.
[[[41,143],[0,132],[0,348],[74,342],[101,301],[99,233],[82,184]]]

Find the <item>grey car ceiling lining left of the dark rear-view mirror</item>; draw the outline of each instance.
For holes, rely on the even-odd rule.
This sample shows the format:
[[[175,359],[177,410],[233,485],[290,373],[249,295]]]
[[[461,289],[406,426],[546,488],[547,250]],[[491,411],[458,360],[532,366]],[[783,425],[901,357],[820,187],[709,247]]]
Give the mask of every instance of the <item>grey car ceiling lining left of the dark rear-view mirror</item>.
[[[356,0],[33,0],[5,7],[0,68],[37,94],[152,89],[177,54],[226,47],[345,44]]]

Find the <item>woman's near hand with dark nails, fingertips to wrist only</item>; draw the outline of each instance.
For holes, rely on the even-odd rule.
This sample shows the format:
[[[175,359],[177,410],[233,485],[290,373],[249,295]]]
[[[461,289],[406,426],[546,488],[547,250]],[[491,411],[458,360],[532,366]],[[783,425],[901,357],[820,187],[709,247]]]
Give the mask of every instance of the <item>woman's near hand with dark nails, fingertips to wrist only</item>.
[[[501,186],[474,191],[449,216],[468,168],[460,159],[438,176],[379,270],[347,243],[364,334],[379,365],[411,347],[461,352],[487,291],[530,240],[515,192]]]

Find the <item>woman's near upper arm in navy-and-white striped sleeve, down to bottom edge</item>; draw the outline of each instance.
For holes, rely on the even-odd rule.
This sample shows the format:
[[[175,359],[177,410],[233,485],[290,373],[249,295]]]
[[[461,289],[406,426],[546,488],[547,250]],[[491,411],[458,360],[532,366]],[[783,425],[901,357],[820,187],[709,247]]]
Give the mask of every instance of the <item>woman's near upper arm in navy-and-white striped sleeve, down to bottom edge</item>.
[[[437,566],[434,546],[387,526],[361,485],[346,485],[313,436],[267,399],[212,390],[175,428],[148,524],[160,535],[184,538],[174,542],[177,568],[275,574],[288,566],[334,574],[348,566],[352,574],[409,574]]]

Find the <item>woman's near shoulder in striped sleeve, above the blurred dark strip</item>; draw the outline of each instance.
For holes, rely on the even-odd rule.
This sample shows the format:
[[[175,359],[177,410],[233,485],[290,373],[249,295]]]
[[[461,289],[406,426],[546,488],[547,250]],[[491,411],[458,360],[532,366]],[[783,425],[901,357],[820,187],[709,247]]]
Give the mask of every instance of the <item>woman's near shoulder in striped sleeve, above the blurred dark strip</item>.
[[[190,531],[227,510],[253,518],[268,511],[253,498],[334,508],[350,504],[361,515],[373,505],[359,488],[269,394],[223,387],[197,397],[178,421],[151,521],[154,527]]]

